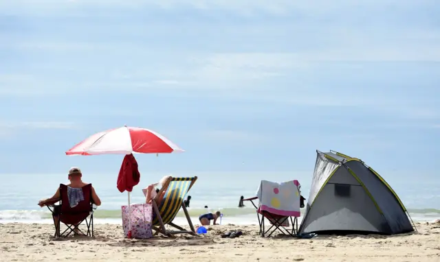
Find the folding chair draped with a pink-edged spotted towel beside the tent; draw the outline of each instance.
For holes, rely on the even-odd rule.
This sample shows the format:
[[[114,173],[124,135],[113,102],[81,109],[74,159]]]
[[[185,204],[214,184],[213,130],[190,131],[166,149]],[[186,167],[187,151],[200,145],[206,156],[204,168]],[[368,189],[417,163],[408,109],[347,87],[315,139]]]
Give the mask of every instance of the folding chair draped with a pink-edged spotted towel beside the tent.
[[[298,217],[300,217],[300,183],[298,180],[288,182],[271,182],[261,180],[256,197],[247,198],[256,208],[256,216],[259,219],[260,235],[270,237],[279,230],[284,235],[296,236],[298,233]],[[259,200],[258,206],[254,200]],[[261,217],[260,217],[261,215]],[[292,219],[294,217],[294,219]],[[269,229],[265,229],[265,219],[269,220]],[[292,226],[291,229],[288,229]]]

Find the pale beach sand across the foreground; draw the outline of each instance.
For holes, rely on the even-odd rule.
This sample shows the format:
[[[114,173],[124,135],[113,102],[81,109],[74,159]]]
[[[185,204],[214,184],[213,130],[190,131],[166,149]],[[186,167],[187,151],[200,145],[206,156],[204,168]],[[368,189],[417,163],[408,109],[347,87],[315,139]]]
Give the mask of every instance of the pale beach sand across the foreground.
[[[208,235],[124,239],[122,226],[95,226],[95,239],[54,239],[53,226],[0,224],[1,261],[440,261],[440,223],[418,233],[262,238],[257,226],[210,226]],[[221,238],[226,230],[243,236]]]

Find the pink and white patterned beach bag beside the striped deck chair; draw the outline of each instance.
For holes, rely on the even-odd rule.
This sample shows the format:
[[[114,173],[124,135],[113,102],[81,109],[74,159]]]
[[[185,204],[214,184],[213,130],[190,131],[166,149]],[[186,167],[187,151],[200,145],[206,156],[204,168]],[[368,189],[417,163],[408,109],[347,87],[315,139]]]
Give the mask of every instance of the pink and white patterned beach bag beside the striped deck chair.
[[[122,227],[124,235],[128,237],[131,230],[131,237],[137,239],[148,239],[153,237],[151,222],[153,220],[153,206],[151,204],[132,204],[122,206]],[[129,228],[131,225],[131,228]]]

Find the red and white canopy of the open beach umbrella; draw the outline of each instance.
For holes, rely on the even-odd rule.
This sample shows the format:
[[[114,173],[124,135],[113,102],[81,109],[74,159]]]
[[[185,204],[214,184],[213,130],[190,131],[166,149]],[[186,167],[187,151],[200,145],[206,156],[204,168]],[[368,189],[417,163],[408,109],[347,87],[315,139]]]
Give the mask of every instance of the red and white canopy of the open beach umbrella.
[[[78,143],[66,152],[67,155],[171,153],[183,152],[175,143],[162,134],[144,128],[123,126],[99,132]]]

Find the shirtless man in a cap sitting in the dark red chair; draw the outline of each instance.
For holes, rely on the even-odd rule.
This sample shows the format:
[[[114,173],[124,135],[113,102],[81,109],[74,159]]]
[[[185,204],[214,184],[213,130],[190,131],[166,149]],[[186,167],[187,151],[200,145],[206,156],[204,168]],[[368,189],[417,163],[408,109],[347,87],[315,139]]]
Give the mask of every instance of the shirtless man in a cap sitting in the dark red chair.
[[[81,188],[85,187],[88,183],[83,182],[83,180],[81,180],[82,177],[83,174],[81,174],[81,170],[78,167],[72,167],[69,170],[68,179],[70,181],[70,184],[67,184],[67,191],[69,194],[69,204],[71,207],[76,206],[80,201],[84,200],[83,190]],[[50,202],[52,200],[59,200],[60,198],[61,198],[60,188],[58,187],[52,198],[40,200],[39,206],[43,207],[45,206],[45,202]],[[96,194],[94,187],[91,187],[91,199],[93,200],[96,206],[100,206],[101,200]],[[53,211],[55,228],[58,225],[60,211],[61,211],[61,205],[55,205]],[[56,228],[56,231],[58,230],[59,228]]]

